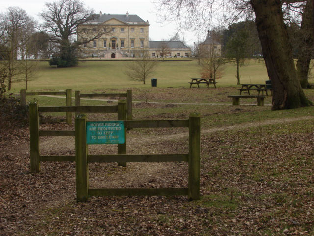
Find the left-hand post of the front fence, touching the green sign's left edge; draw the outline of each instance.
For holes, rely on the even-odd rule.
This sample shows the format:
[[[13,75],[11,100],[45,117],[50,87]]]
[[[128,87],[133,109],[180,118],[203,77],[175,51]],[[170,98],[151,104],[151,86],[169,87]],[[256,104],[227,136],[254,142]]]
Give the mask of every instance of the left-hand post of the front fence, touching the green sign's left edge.
[[[77,202],[88,199],[88,163],[86,143],[86,115],[81,114],[75,118],[75,177]]]

